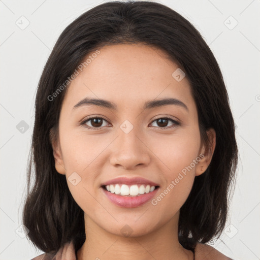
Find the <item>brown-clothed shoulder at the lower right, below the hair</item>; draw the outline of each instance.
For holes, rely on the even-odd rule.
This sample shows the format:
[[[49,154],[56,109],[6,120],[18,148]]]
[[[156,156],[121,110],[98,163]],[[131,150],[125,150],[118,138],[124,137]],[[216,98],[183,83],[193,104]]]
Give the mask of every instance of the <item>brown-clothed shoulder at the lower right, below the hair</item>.
[[[196,260],[232,260],[214,247],[203,243],[197,243],[194,252]]]

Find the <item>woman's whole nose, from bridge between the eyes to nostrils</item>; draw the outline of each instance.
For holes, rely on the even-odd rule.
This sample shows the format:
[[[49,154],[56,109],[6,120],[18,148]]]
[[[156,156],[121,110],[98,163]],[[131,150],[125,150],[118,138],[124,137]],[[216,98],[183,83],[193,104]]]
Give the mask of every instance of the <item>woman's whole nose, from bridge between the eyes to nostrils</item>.
[[[123,121],[118,128],[118,138],[115,141],[115,150],[110,161],[113,165],[132,168],[140,164],[148,164],[149,149],[141,141],[139,126],[134,126],[129,120]]]

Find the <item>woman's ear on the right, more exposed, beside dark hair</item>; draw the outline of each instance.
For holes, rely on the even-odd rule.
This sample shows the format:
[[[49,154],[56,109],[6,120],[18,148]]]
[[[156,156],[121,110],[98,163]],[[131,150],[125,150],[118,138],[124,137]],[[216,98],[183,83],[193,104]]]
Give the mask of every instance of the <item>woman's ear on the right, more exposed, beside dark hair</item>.
[[[216,132],[215,132],[215,130],[213,128],[210,128],[207,131],[207,135],[208,135],[208,138],[209,138],[210,145],[207,148],[205,147],[205,145],[203,145],[201,150],[200,150],[201,160],[197,164],[195,176],[199,176],[207,170],[207,168],[208,168],[208,166],[211,162],[215,147],[216,147]]]

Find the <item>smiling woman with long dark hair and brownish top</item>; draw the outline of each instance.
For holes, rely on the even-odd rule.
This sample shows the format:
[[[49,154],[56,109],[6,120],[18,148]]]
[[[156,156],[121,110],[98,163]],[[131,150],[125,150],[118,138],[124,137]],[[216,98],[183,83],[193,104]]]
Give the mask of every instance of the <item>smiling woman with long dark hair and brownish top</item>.
[[[152,2],[92,8],[42,73],[23,224],[39,259],[230,259],[228,94],[200,33]],[[29,190],[34,162],[36,179]]]

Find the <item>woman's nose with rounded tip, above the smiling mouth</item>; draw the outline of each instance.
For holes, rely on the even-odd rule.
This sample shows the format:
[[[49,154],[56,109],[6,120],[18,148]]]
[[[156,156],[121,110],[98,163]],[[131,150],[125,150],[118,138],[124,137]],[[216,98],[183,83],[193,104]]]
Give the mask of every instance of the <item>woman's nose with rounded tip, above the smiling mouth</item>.
[[[129,133],[119,128],[118,137],[111,148],[110,164],[114,167],[133,170],[150,163],[151,151],[135,127]]]

